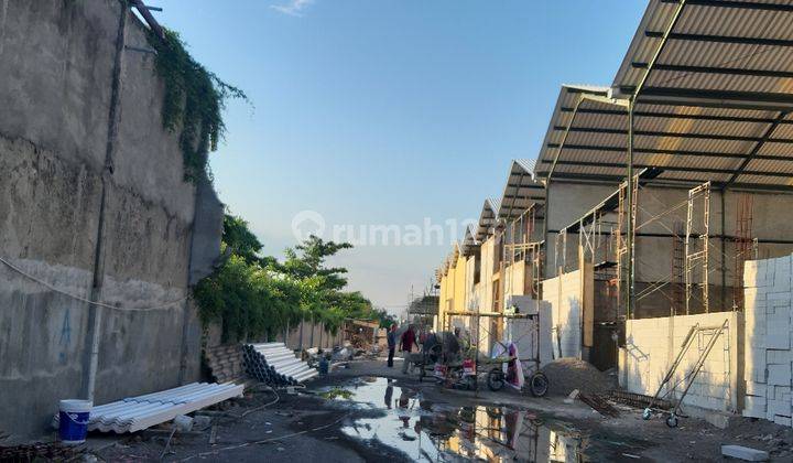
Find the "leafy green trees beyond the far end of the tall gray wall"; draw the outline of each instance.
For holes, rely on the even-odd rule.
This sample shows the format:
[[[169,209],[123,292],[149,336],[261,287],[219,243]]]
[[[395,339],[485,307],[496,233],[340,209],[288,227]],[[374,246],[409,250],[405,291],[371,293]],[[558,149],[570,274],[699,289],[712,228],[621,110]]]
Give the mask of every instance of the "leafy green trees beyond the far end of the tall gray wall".
[[[360,292],[344,291],[347,269],[326,267],[328,257],[352,248],[347,243],[311,236],[279,262],[261,256],[263,246],[248,223],[231,214],[224,218],[222,241],[229,258],[196,286],[194,297],[205,323],[221,322],[225,342],[269,337],[307,317],[332,332],[346,319],[381,325],[391,320]]]

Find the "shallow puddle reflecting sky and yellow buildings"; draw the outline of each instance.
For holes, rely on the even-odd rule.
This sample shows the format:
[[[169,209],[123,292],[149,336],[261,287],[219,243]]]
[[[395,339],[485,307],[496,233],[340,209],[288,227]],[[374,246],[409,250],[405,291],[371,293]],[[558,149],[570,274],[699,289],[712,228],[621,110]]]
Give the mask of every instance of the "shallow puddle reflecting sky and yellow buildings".
[[[582,438],[526,411],[506,407],[448,407],[411,389],[376,378],[347,388],[356,402],[385,416],[361,418],[343,429],[349,437],[377,440],[413,461],[579,462]]]

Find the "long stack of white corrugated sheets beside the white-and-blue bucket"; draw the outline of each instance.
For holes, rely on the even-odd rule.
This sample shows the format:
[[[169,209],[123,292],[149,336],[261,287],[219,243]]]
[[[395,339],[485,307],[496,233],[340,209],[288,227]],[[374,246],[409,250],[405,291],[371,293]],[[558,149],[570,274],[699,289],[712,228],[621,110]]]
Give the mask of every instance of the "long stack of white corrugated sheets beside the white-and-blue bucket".
[[[193,383],[174,389],[130,397],[94,407],[88,430],[135,432],[173,420],[232,397],[242,396],[242,386],[231,383]],[[56,419],[57,420],[57,419]]]

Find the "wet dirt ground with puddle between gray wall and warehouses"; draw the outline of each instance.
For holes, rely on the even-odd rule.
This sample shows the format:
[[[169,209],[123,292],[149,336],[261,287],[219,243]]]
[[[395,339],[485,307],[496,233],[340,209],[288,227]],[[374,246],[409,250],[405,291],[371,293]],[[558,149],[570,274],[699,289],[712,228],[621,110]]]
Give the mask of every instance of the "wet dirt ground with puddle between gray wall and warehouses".
[[[278,392],[274,403],[272,392],[254,391],[214,407],[203,430],[171,437],[164,426],[91,435],[89,444],[108,462],[726,461],[721,444],[793,461],[793,431],[768,421],[738,419],[721,430],[681,419],[671,429],[622,406],[620,417],[606,418],[563,398],[444,389],[384,362],[355,362],[301,394]]]

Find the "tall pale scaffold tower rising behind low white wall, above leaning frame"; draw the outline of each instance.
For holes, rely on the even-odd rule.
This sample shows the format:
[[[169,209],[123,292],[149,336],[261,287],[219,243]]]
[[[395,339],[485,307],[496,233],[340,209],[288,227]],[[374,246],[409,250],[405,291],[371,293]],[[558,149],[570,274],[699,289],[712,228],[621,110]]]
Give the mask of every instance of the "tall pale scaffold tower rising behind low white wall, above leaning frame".
[[[697,207],[697,203],[699,207]],[[688,190],[685,235],[685,308],[691,314],[694,291],[702,292],[705,313],[710,312],[708,298],[708,245],[710,232],[710,182]],[[698,271],[697,271],[698,270]],[[698,278],[698,281],[695,281]]]

